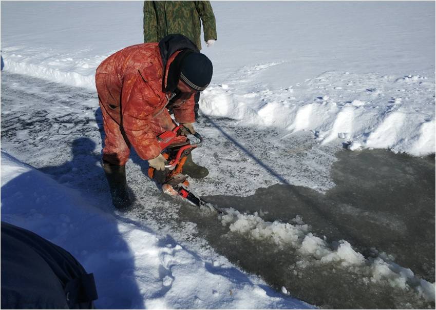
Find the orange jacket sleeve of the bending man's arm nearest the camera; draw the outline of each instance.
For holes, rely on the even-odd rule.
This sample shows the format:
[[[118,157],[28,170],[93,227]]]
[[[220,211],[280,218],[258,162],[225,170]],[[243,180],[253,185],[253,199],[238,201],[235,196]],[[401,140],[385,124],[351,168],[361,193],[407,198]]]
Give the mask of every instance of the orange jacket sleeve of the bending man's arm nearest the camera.
[[[148,160],[160,154],[156,135],[150,128],[154,107],[159,98],[147,90],[139,74],[124,81],[122,90],[122,126],[132,147],[141,159]]]

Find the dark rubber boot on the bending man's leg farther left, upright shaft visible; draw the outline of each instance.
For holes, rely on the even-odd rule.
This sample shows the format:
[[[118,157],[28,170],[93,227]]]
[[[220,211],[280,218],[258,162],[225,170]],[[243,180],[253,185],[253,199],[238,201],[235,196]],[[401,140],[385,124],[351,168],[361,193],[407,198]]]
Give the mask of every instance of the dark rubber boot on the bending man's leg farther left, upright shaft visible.
[[[118,166],[105,160],[102,161],[102,166],[109,183],[113,206],[117,209],[128,208],[132,201],[127,190],[126,166]]]

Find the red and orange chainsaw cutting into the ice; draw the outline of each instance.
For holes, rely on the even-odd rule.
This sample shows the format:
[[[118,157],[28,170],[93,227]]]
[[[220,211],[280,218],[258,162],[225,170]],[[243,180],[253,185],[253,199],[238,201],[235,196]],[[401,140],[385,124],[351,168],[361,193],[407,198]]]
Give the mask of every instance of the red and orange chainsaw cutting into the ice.
[[[165,157],[165,170],[158,171],[153,167],[148,168],[148,177],[154,179],[162,185],[162,191],[165,194],[178,196],[183,200],[198,206],[200,209],[209,209],[214,212],[222,213],[211,203],[204,201],[200,196],[195,194],[189,188],[189,181],[183,174],[183,165],[186,162],[187,155],[192,150],[198,148],[203,143],[203,137],[196,132],[193,134],[198,141],[192,143],[186,137],[186,141],[174,142],[185,131],[189,132],[183,125],[177,125],[173,130],[165,131],[157,137],[158,144],[161,148],[161,154]]]

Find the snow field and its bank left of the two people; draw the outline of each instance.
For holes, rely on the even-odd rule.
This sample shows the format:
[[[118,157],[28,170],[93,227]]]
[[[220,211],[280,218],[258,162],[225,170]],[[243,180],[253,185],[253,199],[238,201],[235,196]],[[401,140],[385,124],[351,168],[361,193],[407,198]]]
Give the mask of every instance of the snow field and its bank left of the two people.
[[[101,61],[142,42],[142,29],[132,31],[141,23],[142,7],[140,2],[2,3],[4,71],[95,90]]]

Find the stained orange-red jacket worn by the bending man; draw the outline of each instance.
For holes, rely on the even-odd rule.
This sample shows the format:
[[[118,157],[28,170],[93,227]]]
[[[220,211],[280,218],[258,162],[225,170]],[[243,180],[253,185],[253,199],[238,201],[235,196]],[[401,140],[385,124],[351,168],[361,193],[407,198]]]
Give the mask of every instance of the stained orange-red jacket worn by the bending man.
[[[103,60],[97,68],[96,86],[102,109],[122,127],[143,159],[154,158],[160,153],[156,140],[159,130],[152,130],[150,121],[169,102],[166,78],[169,66],[179,52],[168,57],[165,71],[158,43],[126,47]],[[194,122],[194,95],[173,111],[177,122]],[[162,128],[161,132],[165,130]]]

